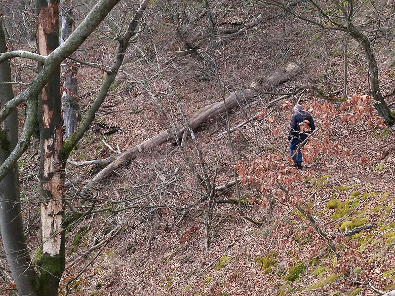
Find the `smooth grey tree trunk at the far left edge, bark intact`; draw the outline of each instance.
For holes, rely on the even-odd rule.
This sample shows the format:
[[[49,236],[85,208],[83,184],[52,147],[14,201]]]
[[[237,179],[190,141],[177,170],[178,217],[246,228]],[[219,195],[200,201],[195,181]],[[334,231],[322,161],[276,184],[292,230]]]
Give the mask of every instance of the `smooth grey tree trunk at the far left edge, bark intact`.
[[[5,36],[0,17],[0,52],[6,52]],[[9,62],[0,64],[0,82],[11,82]],[[0,103],[4,106],[13,98],[11,84],[0,87]],[[0,163],[9,156],[18,142],[18,112],[14,110],[5,120],[0,131]],[[34,287],[35,271],[25,243],[22,224],[18,166],[9,169],[0,182],[0,225],[5,255],[19,295],[37,295]]]

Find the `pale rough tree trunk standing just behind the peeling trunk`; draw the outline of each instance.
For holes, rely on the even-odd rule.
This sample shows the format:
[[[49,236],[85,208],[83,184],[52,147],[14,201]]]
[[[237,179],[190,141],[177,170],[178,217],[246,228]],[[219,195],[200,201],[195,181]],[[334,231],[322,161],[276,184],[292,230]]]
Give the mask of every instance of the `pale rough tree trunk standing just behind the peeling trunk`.
[[[62,35],[60,37],[60,44],[74,32],[74,0],[62,1]],[[62,95],[63,108],[63,126],[65,127],[65,134],[63,139],[69,138],[77,128],[79,120],[81,119],[78,104],[78,80],[77,67],[72,62],[66,63],[65,82],[63,84],[65,91]]]

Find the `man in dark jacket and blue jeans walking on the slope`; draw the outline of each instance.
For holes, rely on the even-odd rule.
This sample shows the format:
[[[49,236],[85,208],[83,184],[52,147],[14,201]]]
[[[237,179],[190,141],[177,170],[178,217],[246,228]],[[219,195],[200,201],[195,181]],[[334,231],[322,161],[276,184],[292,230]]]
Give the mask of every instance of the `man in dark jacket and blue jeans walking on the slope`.
[[[304,111],[302,106],[295,105],[294,111],[295,114],[292,115],[291,129],[288,134],[288,141],[291,141],[291,144],[289,145],[289,153],[291,154],[291,157],[295,154],[299,144],[305,141],[308,137],[308,134],[310,134],[316,128],[312,115]],[[303,122],[305,122],[305,120],[309,122],[310,130],[301,132],[300,127],[302,126]],[[293,166],[297,167],[299,170],[302,169],[302,156],[303,154],[299,150],[299,152],[292,157],[293,161],[295,162]]]

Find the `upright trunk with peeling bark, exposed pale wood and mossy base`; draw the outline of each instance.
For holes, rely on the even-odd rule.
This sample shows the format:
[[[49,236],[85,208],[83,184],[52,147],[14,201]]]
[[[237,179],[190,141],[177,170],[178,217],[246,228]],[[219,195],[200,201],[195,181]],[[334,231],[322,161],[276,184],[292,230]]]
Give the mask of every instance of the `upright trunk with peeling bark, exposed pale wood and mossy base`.
[[[49,55],[59,46],[59,0],[37,0],[38,52]],[[59,159],[63,146],[60,68],[56,67],[39,96],[40,102],[40,198],[42,253],[39,294],[57,296],[65,267],[63,218],[64,166]]]

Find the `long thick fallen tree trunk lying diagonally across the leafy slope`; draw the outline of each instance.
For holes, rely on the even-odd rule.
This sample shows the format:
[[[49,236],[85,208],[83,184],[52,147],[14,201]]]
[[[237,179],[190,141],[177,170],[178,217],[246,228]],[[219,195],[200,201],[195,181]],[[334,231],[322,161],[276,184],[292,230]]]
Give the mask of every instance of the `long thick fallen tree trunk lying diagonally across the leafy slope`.
[[[207,120],[214,118],[226,111],[226,109],[231,110],[237,107],[239,104],[245,104],[249,100],[251,100],[254,96],[259,94],[262,91],[268,91],[273,86],[279,85],[285,81],[288,81],[293,76],[298,74],[301,71],[300,67],[296,63],[291,63],[285,67],[284,72],[276,72],[272,75],[265,76],[263,78],[258,79],[258,81],[254,81],[250,84],[248,88],[244,88],[241,90],[237,90],[226,97],[225,104],[224,102],[218,101],[207,105],[197,111],[192,117],[189,119],[189,124],[192,130],[197,129],[202,123]],[[188,127],[187,127],[188,128]],[[114,156],[109,157],[101,161],[101,164],[109,163],[107,167],[102,169],[89,183],[96,183],[101,181],[103,178],[107,177],[112,171],[118,168],[120,165],[129,161],[136,157],[136,155],[143,151],[151,150],[157,147],[160,144],[163,144],[169,140],[178,137],[182,138],[182,135],[187,130],[183,125],[179,125],[175,129],[177,134],[175,134],[174,129],[167,129],[158,135],[144,141],[143,143],[130,148],[129,150],[120,153],[118,157],[114,160]],[[188,131],[187,131],[188,132]],[[88,185],[89,185],[88,184]]]

